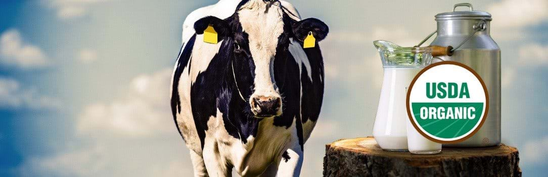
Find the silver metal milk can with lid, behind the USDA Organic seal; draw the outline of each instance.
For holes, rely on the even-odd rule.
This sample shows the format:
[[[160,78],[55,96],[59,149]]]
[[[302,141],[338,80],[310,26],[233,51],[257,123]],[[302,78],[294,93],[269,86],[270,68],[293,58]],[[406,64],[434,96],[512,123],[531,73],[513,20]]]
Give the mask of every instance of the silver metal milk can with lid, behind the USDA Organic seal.
[[[457,7],[468,7],[470,10],[455,11]],[[455,4],[453,12],[436,15],[437,37],[430,45],[454,46],[452,56],[439,58],[472,67],[485,82],[489,93],[489,112],[481,129],[470,139],[444,146],[500,145],[500,48],[489,36],[491,20],[491,14],[475,11],[469,3]]]

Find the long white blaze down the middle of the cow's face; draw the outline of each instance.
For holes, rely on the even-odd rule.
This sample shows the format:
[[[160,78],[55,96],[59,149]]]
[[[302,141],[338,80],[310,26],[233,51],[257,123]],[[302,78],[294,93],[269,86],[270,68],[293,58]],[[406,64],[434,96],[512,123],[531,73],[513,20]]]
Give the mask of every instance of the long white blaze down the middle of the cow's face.
[[[272,2],[272,5],[269,3],[262,0],[249,1],[238,11],[242,29],[249,35],[249,50],[255,64],[255,92],[252,97],[260,95],[279,98],[275,90],[272,63],[278,37],[283,33],[283,11],[279,2]]]

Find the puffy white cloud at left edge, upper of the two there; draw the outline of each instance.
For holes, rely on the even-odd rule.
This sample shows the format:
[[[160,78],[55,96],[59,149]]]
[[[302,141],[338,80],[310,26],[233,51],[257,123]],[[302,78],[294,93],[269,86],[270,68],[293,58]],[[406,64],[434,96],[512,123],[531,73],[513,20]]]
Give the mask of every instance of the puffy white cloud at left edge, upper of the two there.
[[[33,68],[47,65],[48,60],[40,48],[24,44],[19,31],[8,30],[0,37],[0,64]]]

